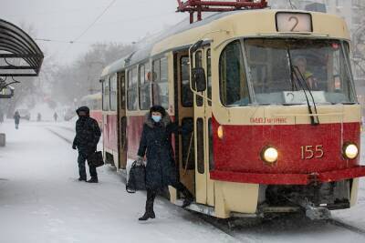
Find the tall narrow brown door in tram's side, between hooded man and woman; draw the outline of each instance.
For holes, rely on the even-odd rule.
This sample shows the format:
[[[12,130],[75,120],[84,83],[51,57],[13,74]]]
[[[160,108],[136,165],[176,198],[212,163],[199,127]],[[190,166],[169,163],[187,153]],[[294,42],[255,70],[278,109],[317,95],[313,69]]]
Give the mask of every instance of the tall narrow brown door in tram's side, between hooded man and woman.
[[[125,72],[118,73],[118,148],[119,148],[119,168],[125,169],[127,166],[127,117],[126,117],[126,97],[125,97]]]

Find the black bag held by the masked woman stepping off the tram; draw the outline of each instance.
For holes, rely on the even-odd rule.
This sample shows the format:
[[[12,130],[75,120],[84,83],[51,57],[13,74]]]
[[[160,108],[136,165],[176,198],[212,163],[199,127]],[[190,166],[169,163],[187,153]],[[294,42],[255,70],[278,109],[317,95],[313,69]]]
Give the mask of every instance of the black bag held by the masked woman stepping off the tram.
[[[130,167],[130,174],[128,177],[126,190],[129,193],[135,193],[138,190],[146,189],[146,167],[138,165],[137,161],[134,161]]]

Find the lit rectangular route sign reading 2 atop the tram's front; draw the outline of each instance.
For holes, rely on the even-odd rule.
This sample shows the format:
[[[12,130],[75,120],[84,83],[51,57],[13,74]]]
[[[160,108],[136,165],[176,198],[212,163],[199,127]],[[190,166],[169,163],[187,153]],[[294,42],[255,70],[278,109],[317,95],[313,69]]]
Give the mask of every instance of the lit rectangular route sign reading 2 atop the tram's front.
[[[279,32],[312,32],[312,15],[308,13],[276,13]]]

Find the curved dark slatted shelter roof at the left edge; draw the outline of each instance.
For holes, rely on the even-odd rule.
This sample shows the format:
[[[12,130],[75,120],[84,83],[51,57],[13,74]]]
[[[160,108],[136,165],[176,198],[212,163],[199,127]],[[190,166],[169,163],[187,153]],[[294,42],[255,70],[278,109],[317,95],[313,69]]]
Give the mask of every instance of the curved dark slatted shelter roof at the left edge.
[[[38,76],[43,53],[21,28],[0,19],[0,76]]]

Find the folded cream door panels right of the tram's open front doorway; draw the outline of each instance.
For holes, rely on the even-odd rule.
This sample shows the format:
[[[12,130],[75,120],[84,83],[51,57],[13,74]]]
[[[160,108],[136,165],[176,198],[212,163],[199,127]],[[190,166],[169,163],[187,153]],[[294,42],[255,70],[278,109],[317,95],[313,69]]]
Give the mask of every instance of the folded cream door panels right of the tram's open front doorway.
[[[195,144],[195,192],[196,202],[214,206],[214,181],[210,179],[212,169],[212,82],[211,50],[203,46],[193,53],[193,67],[205,70],[207,88],[194,95],[194,144]],[[204,98],[206,97],[206,98]],[[207,99],[208,98],[208,99]]]

